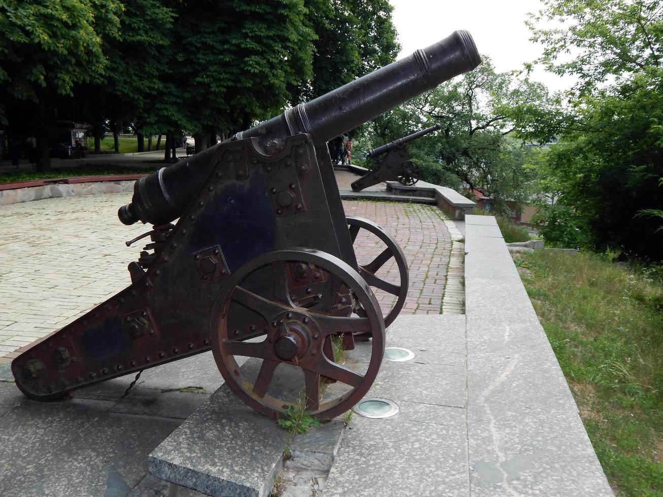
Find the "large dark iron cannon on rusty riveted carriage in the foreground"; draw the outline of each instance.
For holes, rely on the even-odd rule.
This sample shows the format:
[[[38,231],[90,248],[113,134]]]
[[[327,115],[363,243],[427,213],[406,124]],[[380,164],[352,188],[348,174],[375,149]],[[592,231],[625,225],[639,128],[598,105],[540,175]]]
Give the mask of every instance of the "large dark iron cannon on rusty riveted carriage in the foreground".
[[[17,386],[54,400],[211,349],[225,382],[258,412],[282,416],[298,402],[294,384],[310,415],[347,411],[377,375],[408,276],[385,231],[345,217],[326,142],[479,63],[469,33],[453,32],[138,180],[119,219],[154,226],[127,242],[149,236],[129,263],[131,284],[17,357]],[[360,266],[362,230],[384,249]],[[390,259],[398,284],[376,275]],[[391,309],[383,313],[371,288],[392,294]],[[349,368],[334,350],[356,337],[370,340],[370,357]]]

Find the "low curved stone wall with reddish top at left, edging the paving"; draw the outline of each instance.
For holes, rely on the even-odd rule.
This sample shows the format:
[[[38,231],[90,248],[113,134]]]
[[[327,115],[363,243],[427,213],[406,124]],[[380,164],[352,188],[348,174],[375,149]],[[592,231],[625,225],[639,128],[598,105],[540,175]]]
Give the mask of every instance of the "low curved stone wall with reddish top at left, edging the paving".
[[[50,183],[28,188],[0,190],[0,205],[29,202],[52,197],[71,197],[73,195],[92,195],[93,193],[133,192],[135,180],[95,181],[84,183]]]

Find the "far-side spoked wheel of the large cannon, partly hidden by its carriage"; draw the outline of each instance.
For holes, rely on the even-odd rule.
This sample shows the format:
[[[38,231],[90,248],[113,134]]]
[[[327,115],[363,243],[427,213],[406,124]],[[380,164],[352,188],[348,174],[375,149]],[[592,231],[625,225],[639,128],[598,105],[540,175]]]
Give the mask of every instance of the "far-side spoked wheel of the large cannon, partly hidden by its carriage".
[[[358,250],[355,247],[355,254],[357,254],[357,259],[359,262],[359,274],[366,280],[366,282],[373,287],[374,289],[383,290],[396,298],[394,304],[387,309],[383,308],[385,312],[385,327],[391,325],[400,313],[400,309],[403,308],[405,304],[405,298],[408,294],[408,285],[409,285],[409,276],[408,276],[408,264],[405,260],[405,255],[403,251],[398,246],[398,243],[383,230],[379,225],[364,219],[363,217],[346,217],[348,229],[350,231],[350,237],[352,243],[357,242],[357,235],[362,229],[375,235],[380,239],[380,241],[386,246],[379,255],[377,255],[373,260],[362,264],[361,261],[361,250]],[[361,238],[360,238],[361,241]],[[389,282],[384,279],[384,277],[377,276],[377,272],[382,268],[391,258],[394,258],[396,264],[398,265],[398,278],[393,278],[397,280],[395,282]]]

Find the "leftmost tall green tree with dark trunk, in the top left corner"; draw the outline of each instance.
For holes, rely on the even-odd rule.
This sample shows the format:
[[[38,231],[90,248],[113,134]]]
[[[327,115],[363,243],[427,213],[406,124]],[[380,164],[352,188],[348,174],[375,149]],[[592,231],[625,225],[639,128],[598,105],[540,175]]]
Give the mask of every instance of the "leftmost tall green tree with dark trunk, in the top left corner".
[[[50,169],[48,129],[54,97],[99,82],[104,36],[117,36],[117,0],[6,0],[0,3],[0,83],[10,97],[36,103],[37,168]],[[0,119],[5,120],[0,103]]]

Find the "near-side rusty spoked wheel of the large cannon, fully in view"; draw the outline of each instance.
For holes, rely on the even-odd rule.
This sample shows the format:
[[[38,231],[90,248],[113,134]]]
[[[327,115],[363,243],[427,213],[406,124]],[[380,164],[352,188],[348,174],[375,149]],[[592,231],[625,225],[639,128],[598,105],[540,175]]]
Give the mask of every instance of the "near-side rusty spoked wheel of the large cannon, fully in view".
[[[302,264],[324,286],[309,307],[290,295]],[[336,362],[332,339],[344,333],[367,333],[370,358],[352,368]],[[278,418],[305,402],[308,414],[328,419],[349,410],[373,384],[385,323],[373,292],[343,260],[312,249],[277,250],[247,262],[223,284],[211,345],[225,382],[251,408]]]

